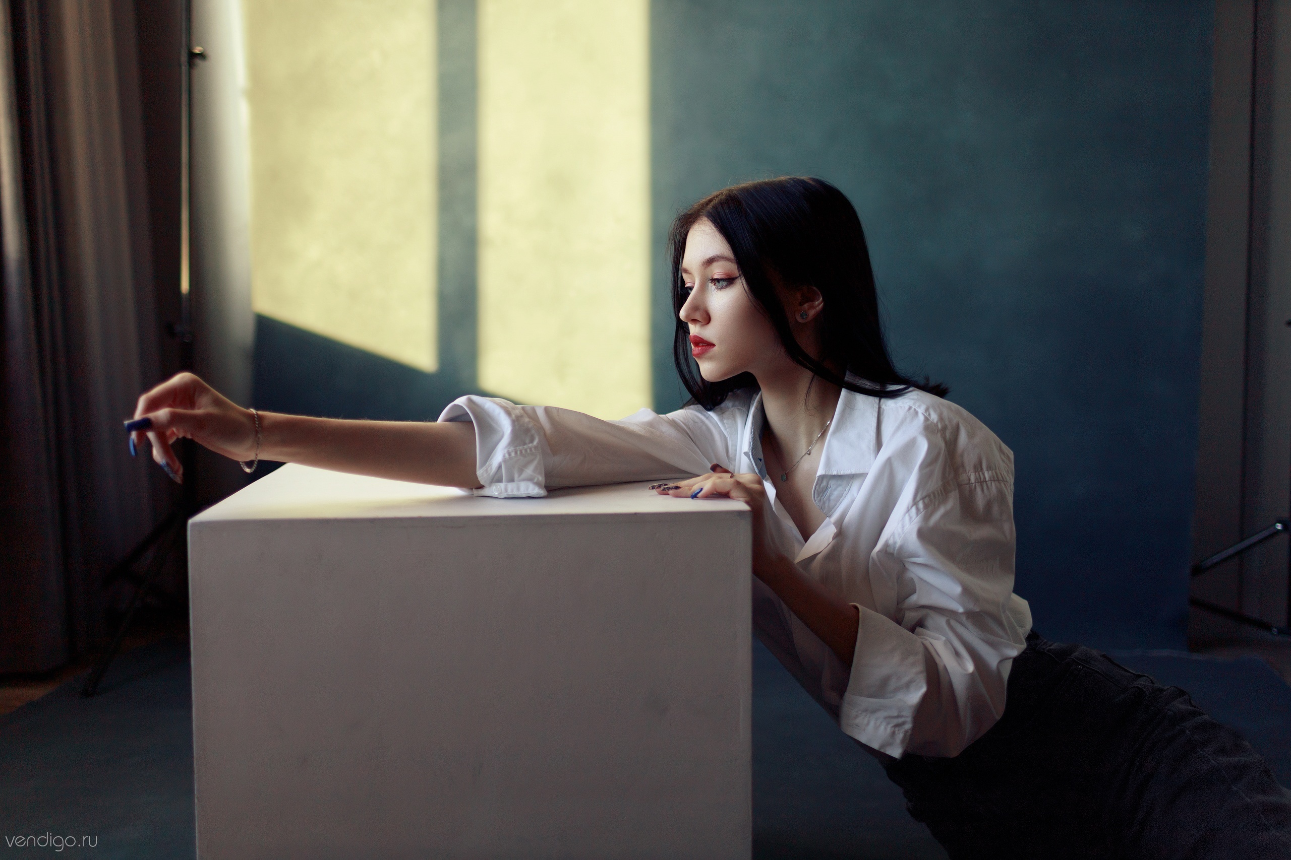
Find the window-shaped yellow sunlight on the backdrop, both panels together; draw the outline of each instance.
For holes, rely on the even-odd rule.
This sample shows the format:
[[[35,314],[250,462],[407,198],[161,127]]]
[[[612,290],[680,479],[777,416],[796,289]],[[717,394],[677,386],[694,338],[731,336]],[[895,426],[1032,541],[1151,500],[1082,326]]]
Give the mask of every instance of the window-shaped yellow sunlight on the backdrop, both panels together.
[[[256,312],[438,370],[435,4],[241,8]],[[621,418],[652,402],[648,3],[480,0],[476,34],[478,384]]]

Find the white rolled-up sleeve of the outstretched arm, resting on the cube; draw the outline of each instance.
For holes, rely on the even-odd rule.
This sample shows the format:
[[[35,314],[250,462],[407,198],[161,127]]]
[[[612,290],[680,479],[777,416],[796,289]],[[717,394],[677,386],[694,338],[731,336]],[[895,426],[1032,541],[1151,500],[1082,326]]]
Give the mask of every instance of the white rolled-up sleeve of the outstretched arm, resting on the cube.
[[[467,396],[449,404],[439,420],[475,425],[476,495],[542,496],[565,486],[688,477],[731,459],[718,419],[698,407],[666,415],[642,409],[611,422]]]

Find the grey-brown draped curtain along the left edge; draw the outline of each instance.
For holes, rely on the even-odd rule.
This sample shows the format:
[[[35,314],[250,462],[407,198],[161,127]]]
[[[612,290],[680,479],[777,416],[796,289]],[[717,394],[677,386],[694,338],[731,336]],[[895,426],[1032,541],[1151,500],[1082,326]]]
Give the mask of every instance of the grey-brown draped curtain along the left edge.
[[[0,673],[43,672],[102,641],[105,572],[177,495],[121,431],[163,376],[134,8],[0,12]]]

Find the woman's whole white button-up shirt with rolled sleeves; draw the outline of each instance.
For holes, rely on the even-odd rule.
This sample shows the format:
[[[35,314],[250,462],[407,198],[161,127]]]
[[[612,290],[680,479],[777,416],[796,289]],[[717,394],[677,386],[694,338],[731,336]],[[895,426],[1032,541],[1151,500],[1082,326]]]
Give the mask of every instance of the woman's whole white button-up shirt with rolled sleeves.
[[[887,756],[955,756],[1004,710],[1032,618],[1013,589],[1013,455],[954,404],[911,389],[843,391],[800,535],[762,456],[760,392],[713,411],[643,409],[618,422],[550,406],[461,397],[440,420],[475,424],[476,476],[491,496],[755,472],[767,534],[799,570],[860,609],[851,669],[754,580],[754,628],[839,727]]]

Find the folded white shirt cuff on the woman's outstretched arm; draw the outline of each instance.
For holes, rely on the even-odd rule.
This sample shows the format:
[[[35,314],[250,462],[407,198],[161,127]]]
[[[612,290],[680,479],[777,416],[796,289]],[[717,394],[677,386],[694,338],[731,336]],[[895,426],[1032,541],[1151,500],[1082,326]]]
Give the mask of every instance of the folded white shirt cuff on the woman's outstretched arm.
[[[523,409],[500,397],[467,395],[451,402],[439,420],[475,425],[475,478],[483,486],[469,493],[498,499],[547,494],[542,436]]]

